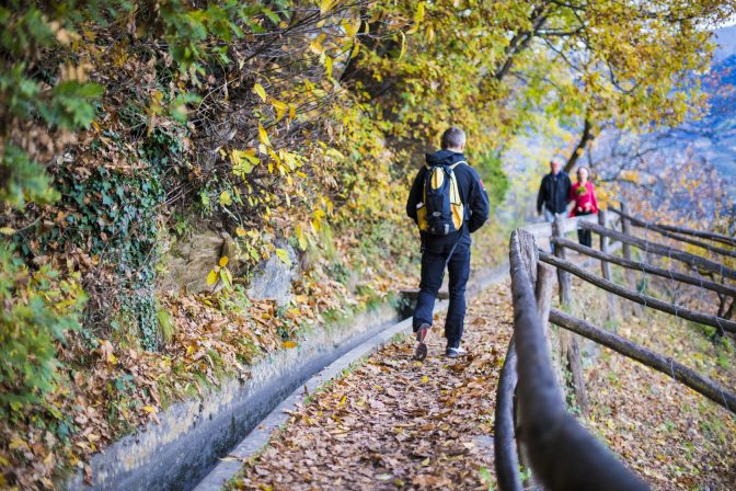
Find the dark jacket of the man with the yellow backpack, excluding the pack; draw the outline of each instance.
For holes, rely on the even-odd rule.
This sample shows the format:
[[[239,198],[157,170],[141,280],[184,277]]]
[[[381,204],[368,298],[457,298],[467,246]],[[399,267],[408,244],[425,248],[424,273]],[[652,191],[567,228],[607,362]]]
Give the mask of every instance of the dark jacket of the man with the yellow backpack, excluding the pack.
[[[427,153],[427,164],[430,167],[438,164],[452,165],[453,163],[463,160],[467,161],[462,153],[450,150],[439,150],[435,153]],[[468,224],[468,227],[462,227],[462,232],[470,239],[470,233],[481,228],[481,226],[488,219],[488,194],[481,181],[481,176],[472,167],[467,163],[461,163],[455,168],[453,172],[458,181],[460,199],[462,199],[462,204],[465,207],[465,222]],[[406,215],[417,224],[416,205],[424,199],[424,181],[426,175],[427,168],[423,165],[414,179],[414,184],[412,185],[412,191],[409,193],[409,201],[406,202]],[[455,233],[447,237],[458,240]],[[423,232],[422,240],[444,242],[447,238]]]

